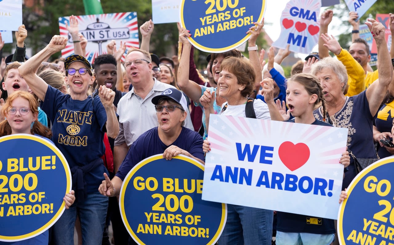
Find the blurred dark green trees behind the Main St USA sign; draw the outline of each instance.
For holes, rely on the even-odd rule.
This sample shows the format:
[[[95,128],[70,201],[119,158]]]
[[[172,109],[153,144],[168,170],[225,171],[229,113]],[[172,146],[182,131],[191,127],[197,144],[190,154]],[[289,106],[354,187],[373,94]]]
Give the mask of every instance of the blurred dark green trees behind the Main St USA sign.
[[[53,35],[59,34],[58,18],[70,15],[85,15],[82,0],[34,0],[35,6],[23,7],[23,24],[28,30],[28,38],[25,43],[32,48],[33,54],[44,48]],[[119,13],[135,11],[138,17],[138,26],[152,18],[151,0],[101,0],[104,13]],[[15,38],[14,38],[15,39]],[[141,42],[141,35],[139,35]],[[264,46],[265,42],[260,37],[258,46]],[[168,54],[169,50],[177,50],[178,28],[176,23],[157,24],[151,37],[151,52],[160,56]],[[10,53],[14,44],[4,47],[6,53]],[[176,52],[176,51],[175,51]],[[174,53],[175,54],[175,53]],[[206,66],[207,53],[195,49],[196,64],[201,68]],[[52,58],[58,58],[60,53]]]

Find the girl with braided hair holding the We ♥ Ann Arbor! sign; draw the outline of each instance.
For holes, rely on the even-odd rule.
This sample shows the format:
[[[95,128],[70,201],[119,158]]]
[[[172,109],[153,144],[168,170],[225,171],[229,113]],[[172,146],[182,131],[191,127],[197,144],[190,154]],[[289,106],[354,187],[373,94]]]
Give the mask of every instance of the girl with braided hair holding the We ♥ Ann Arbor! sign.
[[[315,119],[313,110],[322,105],[323,115],[326,114],[323,89],[319,79],[306,73],[295,74],[287,81],[286,103],[293,119],[287,122],[332,126]],[[339,163],[347,167],[350,164],[349,152],[342,153]],[[338,163],[338,164],[339,164]],[[277,212],[276,244],[332,244],[335,239],[333,219],[317,218],[295,213]],[[314,224],[308,220],[318,220]]]

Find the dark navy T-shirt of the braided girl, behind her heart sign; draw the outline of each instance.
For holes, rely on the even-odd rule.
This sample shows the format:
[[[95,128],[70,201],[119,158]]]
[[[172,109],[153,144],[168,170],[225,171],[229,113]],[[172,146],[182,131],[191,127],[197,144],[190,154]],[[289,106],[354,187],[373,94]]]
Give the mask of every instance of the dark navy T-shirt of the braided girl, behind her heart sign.
[[[294,119],[286,122],[294,123]],[[313,125],[332,126],[315,119]],[[333,219],[318,218],[313,216],[277,212],[277,226],[276,230],[281,232],[307,232],[313,234],[333,234],[335,233],[335,225]]]

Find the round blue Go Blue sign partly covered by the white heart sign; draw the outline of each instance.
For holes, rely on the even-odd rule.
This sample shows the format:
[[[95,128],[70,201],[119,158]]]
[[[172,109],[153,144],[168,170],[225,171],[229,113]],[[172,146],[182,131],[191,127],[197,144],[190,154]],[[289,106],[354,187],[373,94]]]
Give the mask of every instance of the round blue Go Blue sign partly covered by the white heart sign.
[[[139,162],[120,193],[123,223],[138,244],[214,244],[224,228],[226,204],[201,199],[204,166],[162,154]]]

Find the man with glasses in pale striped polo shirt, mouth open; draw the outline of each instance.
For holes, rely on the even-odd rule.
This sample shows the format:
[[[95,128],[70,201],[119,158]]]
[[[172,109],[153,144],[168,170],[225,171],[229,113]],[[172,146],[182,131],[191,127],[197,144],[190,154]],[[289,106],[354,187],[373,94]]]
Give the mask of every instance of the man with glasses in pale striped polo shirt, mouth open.
[[[165,89],[175,88],[152,77],[151,54],[144,50],[131,48],[123,65],[133,88],[118,103],[119,135],[115,139],[113,154],[115,173],[125,159],[130,145],[139,135],[158,125],[152,98]],[[193,130],[189,114],[185,127]]]

